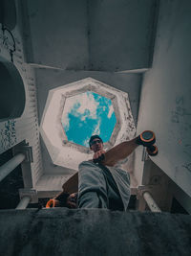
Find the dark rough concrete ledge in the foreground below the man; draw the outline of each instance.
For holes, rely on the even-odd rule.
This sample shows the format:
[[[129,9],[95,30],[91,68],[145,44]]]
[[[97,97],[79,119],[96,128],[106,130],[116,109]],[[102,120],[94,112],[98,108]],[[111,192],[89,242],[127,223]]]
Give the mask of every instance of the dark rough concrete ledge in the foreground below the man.
[[[0,255],[191,255],[191,217],[108,210],[0,211]]]

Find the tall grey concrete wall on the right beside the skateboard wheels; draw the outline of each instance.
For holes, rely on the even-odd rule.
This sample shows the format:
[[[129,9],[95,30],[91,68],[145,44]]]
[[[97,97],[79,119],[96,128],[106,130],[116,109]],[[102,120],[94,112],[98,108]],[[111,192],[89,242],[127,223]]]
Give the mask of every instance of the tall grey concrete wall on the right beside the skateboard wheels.
[[[138,132],[156,132],[152,160],[191,196],[191,2],[160,1],[152,69],[144,76]],[[137,162],[137,170],[138,170]]]

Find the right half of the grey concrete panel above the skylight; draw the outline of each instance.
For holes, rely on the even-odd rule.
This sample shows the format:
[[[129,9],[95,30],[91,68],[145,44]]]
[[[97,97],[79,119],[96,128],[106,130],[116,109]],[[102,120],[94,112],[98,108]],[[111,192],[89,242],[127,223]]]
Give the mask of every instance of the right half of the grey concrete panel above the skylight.
[[[89,1],[91,70],[150,67],[158,2]]]

